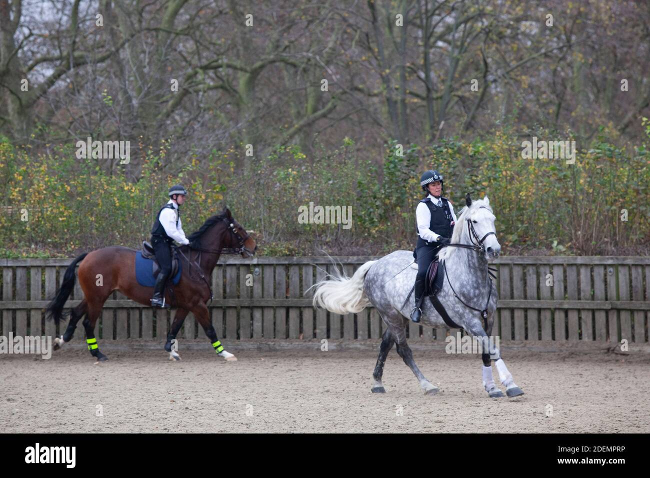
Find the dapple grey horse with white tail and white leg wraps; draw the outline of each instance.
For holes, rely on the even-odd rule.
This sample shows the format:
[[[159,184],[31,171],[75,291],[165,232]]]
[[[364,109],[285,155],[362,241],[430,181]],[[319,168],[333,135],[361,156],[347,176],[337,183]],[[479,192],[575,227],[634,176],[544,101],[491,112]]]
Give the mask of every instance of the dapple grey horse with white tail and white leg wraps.
[[[441,269],[446,269],[447,277],[444,278],[437,297],[452,321],[484,344],[482,377],[489,397],[503,396],[495,385],[491,360],[495,360],[499,379],[505,386],[508,397],[516,397],[522,395],[523,391],[515,384],[499,349],[489,341],[497,309],[497,291],[489,277],[487,259],[499,257],[501,249],[494,228],[495,216],[487,196],[472,201],[467,194],[465,202],[467,206],[461,209],[451,238],[452,245],[460,246],[447,246],[438,254],[439,273],[445,274]],[[419,380],[424,393],[434,394],[439,390],[424,378],[406,343],[406,326],[409,323],[407,317],[415,307],[413,294],[406,300],[417,273],[409,267],[413,263],[412,258],[411,251],[397,250],[361,265],[351,278],[336,271],[334,275],[314,285],[314,306],[340,314],[358,313],[368,306],[374,306],[387,325],[372,374],[374,393],[385,392],[382,384],[383,364],[394,344],[397,353]],[[447,327],[426,298],[422,302],[421,323],[435,328]]]

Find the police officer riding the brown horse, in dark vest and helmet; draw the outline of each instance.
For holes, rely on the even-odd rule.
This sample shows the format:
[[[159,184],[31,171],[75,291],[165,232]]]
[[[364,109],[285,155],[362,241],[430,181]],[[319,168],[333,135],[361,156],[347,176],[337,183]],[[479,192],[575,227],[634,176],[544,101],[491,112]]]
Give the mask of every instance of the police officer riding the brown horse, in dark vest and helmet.
[[[169,304],[164,303],[164,286],[172,272],[171,246],[174,241],[181,245],[190,243],[183,232],[179,209],[179,206],[185,202],[186,195],[187,191],[183,186],[177,184],[170,187],[170,200],[158,211],[151,228],[151,246],[161,267],[156,284],[153,286],[151,307],[169,308]]]

